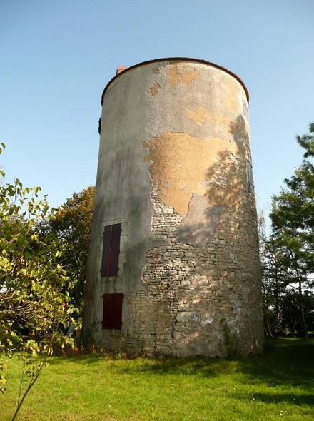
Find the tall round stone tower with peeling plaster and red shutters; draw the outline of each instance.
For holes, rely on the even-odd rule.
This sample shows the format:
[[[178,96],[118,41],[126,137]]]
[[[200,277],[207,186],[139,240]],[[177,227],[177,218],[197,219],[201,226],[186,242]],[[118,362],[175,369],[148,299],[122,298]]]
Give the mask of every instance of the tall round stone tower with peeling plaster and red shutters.
[[[136,354],[260,352],[244,83],[158,59],[118,72],[101,103],[85,335]]]

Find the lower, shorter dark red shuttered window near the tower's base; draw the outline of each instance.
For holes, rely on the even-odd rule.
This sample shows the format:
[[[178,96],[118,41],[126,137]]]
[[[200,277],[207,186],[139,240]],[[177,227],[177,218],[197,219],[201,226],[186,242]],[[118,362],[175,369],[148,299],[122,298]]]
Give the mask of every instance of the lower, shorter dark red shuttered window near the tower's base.
[[[121,330],[123,294],[103,294],[103,329]]]

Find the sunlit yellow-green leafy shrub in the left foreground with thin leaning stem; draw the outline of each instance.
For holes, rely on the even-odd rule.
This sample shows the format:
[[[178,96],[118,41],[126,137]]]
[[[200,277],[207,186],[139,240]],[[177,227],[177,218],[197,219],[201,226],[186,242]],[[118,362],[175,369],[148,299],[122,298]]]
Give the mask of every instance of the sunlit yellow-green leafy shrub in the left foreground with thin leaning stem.
[[[62,265],[66,241],[37,232],[39,222],[51,218],[40,191],[24,187],[18,178],[0,185],[0,352],[23,361],[16,414],[54,345],[73,343],[64,332],[76,313],[70,300],[75,280]],[[43,358],[34,361],[37,355]],[[4,392],[3,360],[0,370]]]

